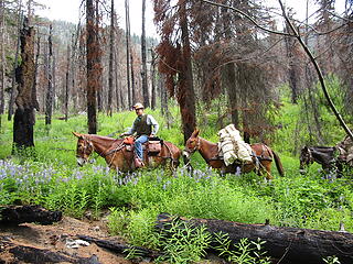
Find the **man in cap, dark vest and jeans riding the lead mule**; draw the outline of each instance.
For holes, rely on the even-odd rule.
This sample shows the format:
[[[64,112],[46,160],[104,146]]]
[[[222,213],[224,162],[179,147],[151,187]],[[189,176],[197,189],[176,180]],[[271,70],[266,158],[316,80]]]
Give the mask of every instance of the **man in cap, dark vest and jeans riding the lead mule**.
[[[149,138],[153,138],[157,134],[159,124],[151,114],[146,114],[143,112],[145,107],[142,103],[138,102],[132,108],[136,111],[137,118],[129,131],[120,134],[120,136],[132,135],[136,133],[136,140],[133,142],[135,166],[136,168],[140,168],[145,166],[142,144],[148,142]]]

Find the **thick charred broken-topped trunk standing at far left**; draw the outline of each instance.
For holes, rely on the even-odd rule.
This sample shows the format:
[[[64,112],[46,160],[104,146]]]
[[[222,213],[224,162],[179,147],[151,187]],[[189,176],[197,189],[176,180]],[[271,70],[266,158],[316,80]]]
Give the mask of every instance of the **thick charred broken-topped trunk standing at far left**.
[[[21,30],[21,65],[17,68],[18,96],[15,99],[17,110],[13,120],[13,148],[34,146],[34,106],[36,98],[33,98],[34,77],[34,31],[23,21]]]

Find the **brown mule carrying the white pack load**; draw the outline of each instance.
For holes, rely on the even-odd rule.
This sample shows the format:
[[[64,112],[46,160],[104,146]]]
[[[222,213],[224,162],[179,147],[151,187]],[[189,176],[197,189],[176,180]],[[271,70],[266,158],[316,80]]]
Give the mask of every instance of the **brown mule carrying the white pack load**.
[[[269,146],[263,143],[252,144],[252,163],[231,164],[226,166],[224,164],[223,157],[218,155],[218,145],[202,139],[201,136],[199,136],[199,130],[195,130],[186,141],[185,150],[183,152],[184,160],[188,160],[192,153],[199,151],[208,166],[221,169],[222,173],[237,173],[237,168],[240,168],[242,173],[250,173],[255,169],[258,175],[263,175],[264,173],[266,173],[266,178],[271,179],[271,163],[275,158],[279,175],[285,175],[279,156]]]

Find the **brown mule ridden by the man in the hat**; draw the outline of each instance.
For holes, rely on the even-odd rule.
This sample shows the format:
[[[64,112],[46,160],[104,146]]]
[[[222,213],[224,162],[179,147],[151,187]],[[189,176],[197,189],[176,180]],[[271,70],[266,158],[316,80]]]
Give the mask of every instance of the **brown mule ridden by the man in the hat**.
[[[136,169],[133,163],[132,145],[124,143],[124,139],[113,139],[96,134],[81,134],[73,132],[78,138],[76,157],[78,165],[88,162],[89,155],[96,152],[106,160],[110,168],[119,172],[132,172]],[[172,169],[179,166],[181,150],[170,142],[161,141],[161,151],[152,156],[143,151],[146,167],[154,168],[159,165],[170,165]]]

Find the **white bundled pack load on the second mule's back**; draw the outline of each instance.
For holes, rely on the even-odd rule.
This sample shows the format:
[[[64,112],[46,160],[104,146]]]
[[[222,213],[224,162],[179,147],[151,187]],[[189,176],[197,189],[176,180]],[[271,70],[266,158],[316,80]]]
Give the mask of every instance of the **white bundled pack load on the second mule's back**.
[[[240,132],[228,124],[217,133],[220,136],[218,151],[223,155],[226,166],[234,162],[252,163],[253,150],[249,144],[245,143],[240,136]]]

